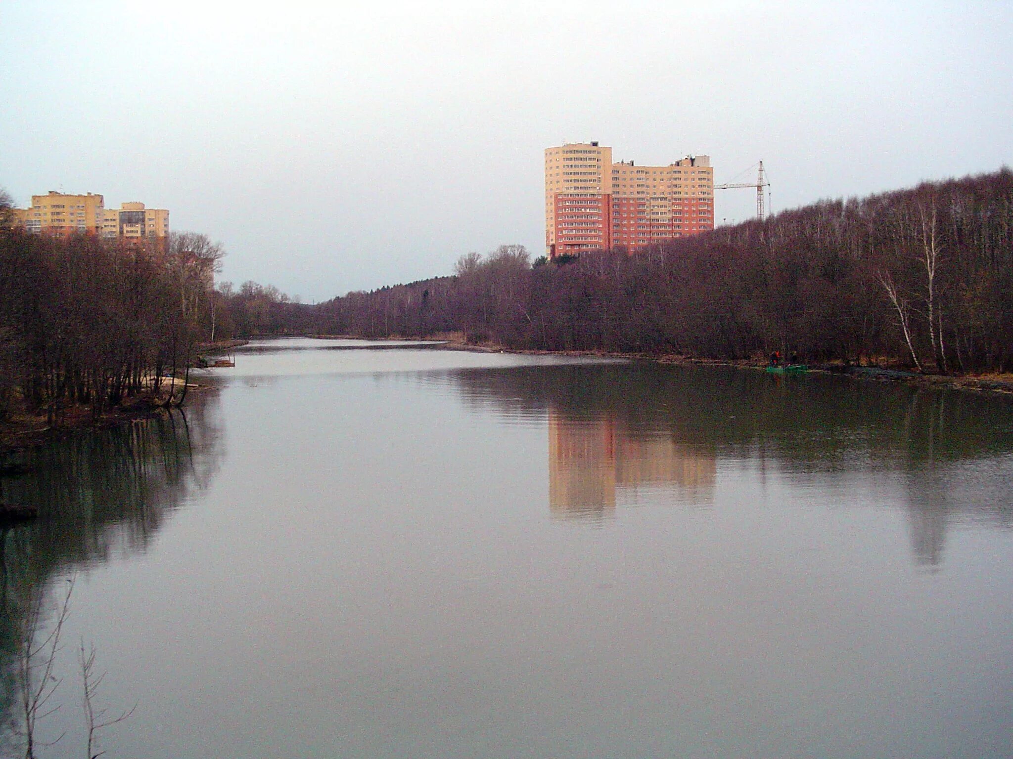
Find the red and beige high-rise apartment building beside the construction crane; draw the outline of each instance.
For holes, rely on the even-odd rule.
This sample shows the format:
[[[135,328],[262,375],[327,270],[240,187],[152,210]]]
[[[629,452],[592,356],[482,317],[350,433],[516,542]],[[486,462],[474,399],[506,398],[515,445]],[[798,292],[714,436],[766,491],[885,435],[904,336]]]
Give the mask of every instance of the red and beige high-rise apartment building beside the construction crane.
[[[714,229],[708,156],[668,166],[612,162],[612,148],[570,143],[545,151],[545,247],[550,258],[630,251]]]

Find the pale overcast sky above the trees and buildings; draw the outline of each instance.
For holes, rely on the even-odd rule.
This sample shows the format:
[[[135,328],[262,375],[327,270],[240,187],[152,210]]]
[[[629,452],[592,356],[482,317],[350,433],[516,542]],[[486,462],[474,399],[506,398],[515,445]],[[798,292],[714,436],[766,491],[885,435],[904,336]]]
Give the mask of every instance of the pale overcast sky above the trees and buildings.
[[[1010,2],[3,0],[0,74],[18,205],[166,207],[304,301],[540,255],[563,141],[763,159],[775,210],[1013,163]]]

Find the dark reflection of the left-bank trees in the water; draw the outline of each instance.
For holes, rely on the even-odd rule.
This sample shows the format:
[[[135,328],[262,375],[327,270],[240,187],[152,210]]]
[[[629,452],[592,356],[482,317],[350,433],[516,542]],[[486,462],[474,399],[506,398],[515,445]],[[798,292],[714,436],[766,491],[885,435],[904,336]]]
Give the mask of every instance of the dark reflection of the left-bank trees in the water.
[[[185,415],[41,446],[28,453],[27,475],[0,481],[0,499],[40,510],[29,524],[0,529],[0,709],[7,724],[30,599],[78,568],[143,553],[187,495],[209,485],[223,453],[208,418],[214,398]]]

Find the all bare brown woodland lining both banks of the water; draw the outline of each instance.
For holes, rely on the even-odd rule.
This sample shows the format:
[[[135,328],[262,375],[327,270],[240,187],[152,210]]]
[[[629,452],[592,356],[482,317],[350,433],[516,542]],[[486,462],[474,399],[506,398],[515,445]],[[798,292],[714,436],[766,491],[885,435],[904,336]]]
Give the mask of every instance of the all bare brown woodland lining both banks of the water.
[[[199,353],[254,337],[454,335],[446,347],[736,366],[779,351],[853,376],[1013,392],[1007,168],[634,254],[532,261],[504,245],[451,276],[312,305],[216,286],[225,253],[203,235],[43,237],[13,229],[10,206],[0,191],[0,454],[181,406]]]

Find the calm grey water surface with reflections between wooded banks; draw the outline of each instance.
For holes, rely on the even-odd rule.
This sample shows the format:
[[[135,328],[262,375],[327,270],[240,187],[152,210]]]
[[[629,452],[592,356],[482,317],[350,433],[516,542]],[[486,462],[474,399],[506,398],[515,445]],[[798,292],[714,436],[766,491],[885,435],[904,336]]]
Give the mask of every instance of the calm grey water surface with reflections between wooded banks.
[[[2,481],[8,712],[76,578],[42,756],[82,639],[109,757],[1013,755],[1010,400],[383,347],[253,344]]]

